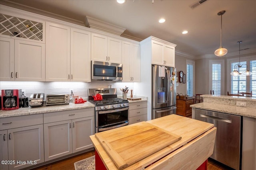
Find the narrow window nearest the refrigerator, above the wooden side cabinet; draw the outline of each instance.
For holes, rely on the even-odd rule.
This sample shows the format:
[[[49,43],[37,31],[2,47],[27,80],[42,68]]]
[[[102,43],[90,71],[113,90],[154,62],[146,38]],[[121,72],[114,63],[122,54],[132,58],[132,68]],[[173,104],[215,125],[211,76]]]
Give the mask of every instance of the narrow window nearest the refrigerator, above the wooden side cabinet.
[[[186,60],[187,95],[194,96],[194,61]]]

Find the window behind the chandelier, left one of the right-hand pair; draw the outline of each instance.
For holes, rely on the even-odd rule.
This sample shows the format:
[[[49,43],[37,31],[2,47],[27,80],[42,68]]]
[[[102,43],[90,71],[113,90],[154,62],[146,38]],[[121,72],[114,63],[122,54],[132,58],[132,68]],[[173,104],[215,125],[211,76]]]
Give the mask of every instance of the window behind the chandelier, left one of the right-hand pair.
[[[234,66],[238,63],[231,63],[231,72],[234,70]],[[240,64],[246,64],[246,61],[240,62]],[[246,71],[246,65],[243,65],[241,68],[238,68],[238,72],[243,73]],[[240,74],[240,76],[235,77],[231,76],[231,92],[230,94],[238,94],[239,92],[246,92],[246,76]]]

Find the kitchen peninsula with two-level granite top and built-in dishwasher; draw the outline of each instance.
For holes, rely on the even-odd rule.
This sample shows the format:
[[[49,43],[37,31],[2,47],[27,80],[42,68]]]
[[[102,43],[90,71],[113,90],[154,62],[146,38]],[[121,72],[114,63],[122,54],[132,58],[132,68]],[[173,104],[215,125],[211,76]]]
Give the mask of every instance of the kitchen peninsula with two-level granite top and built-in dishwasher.
[[[201,95],[203,102],[190,105],[192,118],[217,127],[214,159],[230,167],[240,166],[242,170],[256,170],[256,98],[244,96]],[[236,118],[235,118],[236,117]],[[240,119],[239,121],[237,121]],[[235,144],[235,145],[234,145]],[[225,145],[225,149],[221,149]],[[230,154],[238,149],[238,160]],[[240,149],[239,149],[240,148]],[[224,151],[226,150],[226,151]],[[232,156],[223,158],[227,152]],[[229,159],[229,161],[228,161]],[[232,163],[233,162],[233,163]],[[240,162],[240,165],[237,164]],[[234,167],[232,167],[234,168]],[[238,168],[234,168],[238,169]]]

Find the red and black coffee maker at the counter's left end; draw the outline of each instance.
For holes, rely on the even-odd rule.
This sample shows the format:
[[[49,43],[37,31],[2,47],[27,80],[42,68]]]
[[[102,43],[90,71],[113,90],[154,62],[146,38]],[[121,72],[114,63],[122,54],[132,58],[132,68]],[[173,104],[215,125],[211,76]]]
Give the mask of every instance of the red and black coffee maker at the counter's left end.
[[[2,90],[2,110],[14,110],[22,107],[22,90]]]

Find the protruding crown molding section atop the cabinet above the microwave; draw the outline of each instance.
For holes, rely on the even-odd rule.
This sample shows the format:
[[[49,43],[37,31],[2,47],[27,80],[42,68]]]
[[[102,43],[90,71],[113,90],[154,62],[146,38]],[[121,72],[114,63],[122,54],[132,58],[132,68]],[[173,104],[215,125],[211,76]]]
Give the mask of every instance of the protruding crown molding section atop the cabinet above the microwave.
[[[100,21],[89,16],[85,17],[84,24],[86,27],[97,29],[99,31],[104,31],[118,36],[120,36],[126,30],[123,27],[119,27],[104,21]]]

